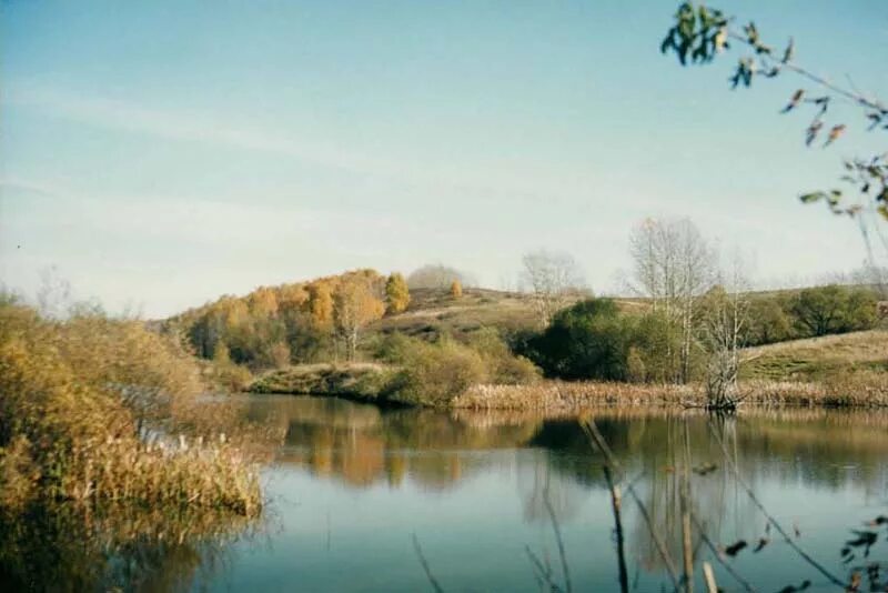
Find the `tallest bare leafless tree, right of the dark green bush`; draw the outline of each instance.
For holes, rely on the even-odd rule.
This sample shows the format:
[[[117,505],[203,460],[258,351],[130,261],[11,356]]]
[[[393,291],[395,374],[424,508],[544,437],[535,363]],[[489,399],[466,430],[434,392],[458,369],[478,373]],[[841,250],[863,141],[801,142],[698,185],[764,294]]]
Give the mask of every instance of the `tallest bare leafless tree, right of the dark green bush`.
[[[675,379],[687,382],[696,302],[713,285],[715,251],[688,219],[646,219],[629,235],[629,254],[630,290],[650,299],[654,310],[662,311],[682,330]]]

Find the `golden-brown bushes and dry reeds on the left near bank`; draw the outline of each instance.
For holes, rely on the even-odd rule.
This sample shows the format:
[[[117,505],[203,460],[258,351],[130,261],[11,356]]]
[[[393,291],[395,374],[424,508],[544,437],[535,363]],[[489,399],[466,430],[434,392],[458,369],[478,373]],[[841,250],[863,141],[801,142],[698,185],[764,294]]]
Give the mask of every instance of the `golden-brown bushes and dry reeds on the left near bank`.
[[[1,305],[0,504],[259,513],[258,473],[231,443],[159,438],[200,392],[185,353],[140,322]]]

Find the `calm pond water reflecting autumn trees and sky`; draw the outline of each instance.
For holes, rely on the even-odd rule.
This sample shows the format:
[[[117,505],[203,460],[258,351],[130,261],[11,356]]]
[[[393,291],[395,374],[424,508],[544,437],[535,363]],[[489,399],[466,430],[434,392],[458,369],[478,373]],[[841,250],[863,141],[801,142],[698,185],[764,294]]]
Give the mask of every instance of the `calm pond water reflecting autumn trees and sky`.
[[[201,529],[188,517],[0,517],[0,589],[281,591],[299,583],[305,591],[430,590],[414,534],[445,591],[538,591],[526,551],[559,580],[559,544],[575,591],[617,587],[604,460],[576,418],[380,410],[291,396],[243,399],[226,410],[262,428],[251,434],[273,460],[265,472],[273,525],[261,541],[244,539],[244,525],[213,531],[218,524]],[[869,556],[855,546],[848,562],[839,554],[844,542],[855,541],[850,529],[888,515],[888,414],[710,419],[629,410],[592,418],[650,520],[649,527],[624,490],[634,590],[670,589],[652,527],[680,565],[677,476],[685,468],[696,470],[694,517],[723,549],[749,543],[725,561],[758,589],[805,579],[814,590],[831,585],[765,531],[766,519],[729,471],[733,464],[794,541],[842,581],[888,554],[888,522],[866,527],[878,532]],[[754,552],[766,535],[767,545]],[[714,563],[719,585],[737,589],[697,536],[694,555]]]

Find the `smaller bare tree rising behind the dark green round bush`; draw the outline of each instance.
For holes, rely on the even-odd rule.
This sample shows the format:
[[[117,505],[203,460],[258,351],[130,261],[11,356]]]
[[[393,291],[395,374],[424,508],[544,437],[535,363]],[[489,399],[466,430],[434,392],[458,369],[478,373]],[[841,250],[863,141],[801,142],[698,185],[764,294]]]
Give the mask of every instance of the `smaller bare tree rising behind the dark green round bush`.
[[[569,302],[571,293],[583,287],[583,278],[568,253],[538,250],[522,258],[522,280],[533,294],[542,326]]]

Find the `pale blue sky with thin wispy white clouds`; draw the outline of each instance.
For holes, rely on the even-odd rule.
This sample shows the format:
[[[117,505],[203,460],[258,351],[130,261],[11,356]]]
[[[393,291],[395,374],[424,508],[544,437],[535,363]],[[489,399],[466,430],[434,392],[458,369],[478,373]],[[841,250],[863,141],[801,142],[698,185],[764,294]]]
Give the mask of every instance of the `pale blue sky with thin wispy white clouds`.
[[[514,288],[545,248],[614,292],[646,217],[690,218],[760,285],[859,265],[854,222],[797,197],[885,135],[839,104],[847,135],[806,149],[779,110],[814,87],[731,91],[736,52],[680,68],[677,4],[0,0],[0,281],[52,269],[161,316],[355,268]],[[888,98],[888,2],[713,6]]]

